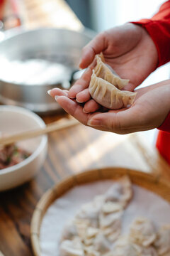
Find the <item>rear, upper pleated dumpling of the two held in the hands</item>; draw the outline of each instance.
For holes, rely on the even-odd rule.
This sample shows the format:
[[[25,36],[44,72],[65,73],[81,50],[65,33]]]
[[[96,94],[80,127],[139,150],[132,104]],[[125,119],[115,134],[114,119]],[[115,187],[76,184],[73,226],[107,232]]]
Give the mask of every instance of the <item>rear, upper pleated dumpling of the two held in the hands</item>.
[[[122,90],[125,85],[128,85],[129,80],[119,78],[118,75],[114,74],[114,71],[108,68],[108,65],[104,63],[103,54],[96,55],[96,61],[97,65],[94,68],[94,73],[98,78],[102,78],[103,80],[110,82],[119,90]]]

